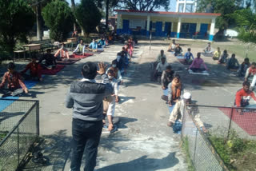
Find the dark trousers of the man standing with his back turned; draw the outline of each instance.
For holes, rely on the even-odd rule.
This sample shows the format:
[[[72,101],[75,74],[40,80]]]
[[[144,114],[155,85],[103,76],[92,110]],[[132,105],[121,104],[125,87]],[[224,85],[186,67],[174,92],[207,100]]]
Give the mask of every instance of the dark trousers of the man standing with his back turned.
[[[93,171],[96,165],[98,153],[98,143],[102,134],[101,121],[82,121],[73,119],[72,121],[72,156],[70,169],[80,171],[82,154],[86,148],[85,171]]]

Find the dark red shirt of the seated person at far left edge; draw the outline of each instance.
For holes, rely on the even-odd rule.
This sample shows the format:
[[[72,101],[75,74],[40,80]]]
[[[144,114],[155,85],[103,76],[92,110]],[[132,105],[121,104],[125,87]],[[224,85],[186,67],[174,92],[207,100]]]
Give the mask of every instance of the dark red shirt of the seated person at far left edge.
[[[0,88],[3,88],[3,86],[8,82],[8,89],[19,89],[22,87],[22,89],[26,89],[26,85],[21,80],[21,75],[18,74],[18,72],[14,71],[14,73],[10,74],[9,72],[6,72],[2,77],[2,83],[0,84]]]

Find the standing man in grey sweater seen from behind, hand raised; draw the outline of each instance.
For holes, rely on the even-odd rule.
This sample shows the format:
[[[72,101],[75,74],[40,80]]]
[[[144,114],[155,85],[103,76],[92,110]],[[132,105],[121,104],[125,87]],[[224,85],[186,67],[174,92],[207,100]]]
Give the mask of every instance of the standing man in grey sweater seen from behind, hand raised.
[[[73,108],[72,121],[72,157],[71,171],[80,170],[82,154],[86,148],[86,166],[84,170],[93,171],[96,165],[98,144],[102,134],[102,119],[104,97],[113,92],[109,83],[96,83],[98,74],[105,74],[105,66],[101,62],[97,66],[86,62],[82,66],[82,76],[79,82],[71,84],[66,97],[66,107]]]

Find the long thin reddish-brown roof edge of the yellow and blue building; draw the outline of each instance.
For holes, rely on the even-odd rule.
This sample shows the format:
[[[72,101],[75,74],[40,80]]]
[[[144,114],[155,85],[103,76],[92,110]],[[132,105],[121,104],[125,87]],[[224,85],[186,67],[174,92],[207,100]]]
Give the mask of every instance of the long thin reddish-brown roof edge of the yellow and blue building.
[[[173,15],[199,15],[199,16],[221,16],[218,13],[178,13],[178,12],[166,12],[166,11],[142,11],[142,10],[114,10],[116,12],[125,13],[149,13],[149,14],[173,14]]]

